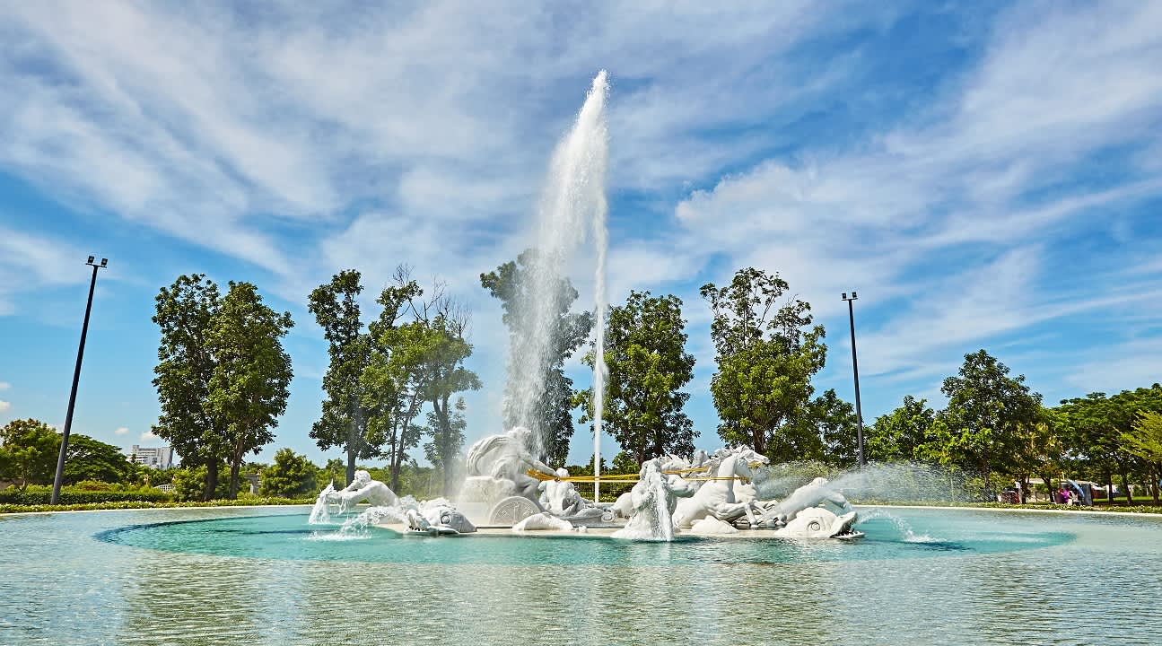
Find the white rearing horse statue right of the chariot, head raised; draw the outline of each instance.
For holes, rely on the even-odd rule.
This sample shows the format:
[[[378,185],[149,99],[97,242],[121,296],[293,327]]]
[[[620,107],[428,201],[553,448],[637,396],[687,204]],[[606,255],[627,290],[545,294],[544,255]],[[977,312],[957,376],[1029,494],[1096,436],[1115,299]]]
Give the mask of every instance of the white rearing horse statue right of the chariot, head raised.
[[[715,464],[717,462],[717,467]],[[674,526],[689,529],[695,521],[708,516],[727,523],[743,517],[754,517],[761,509],[753,500],[740,501],[736,495],[734,485],[738,479],[751,480],[751,466],[769,465],[766,455],[755,453],[745,446],[720,448],[715,452],[708,465],[713,468],[713,478],[698,488],[693,497],[677,501],[674,510]],[[693,476],[693,475],[691,475]]]

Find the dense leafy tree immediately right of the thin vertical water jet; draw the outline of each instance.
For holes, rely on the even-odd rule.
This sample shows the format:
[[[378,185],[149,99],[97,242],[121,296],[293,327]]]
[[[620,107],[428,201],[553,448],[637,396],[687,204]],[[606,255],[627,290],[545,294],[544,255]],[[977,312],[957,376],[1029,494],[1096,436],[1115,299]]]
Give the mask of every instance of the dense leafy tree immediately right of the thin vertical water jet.
[[[680,389],[694,378],[694,356],[686,352],[686,321],[677,296],[630,292],[624,306],[609,309],[605,331],[603,429],[633,461],[694,452],[694,423],[682,408],[690,399]],[[594,353],[584,363],[593,366]],[[576,403],[593,419],[593,390]]]

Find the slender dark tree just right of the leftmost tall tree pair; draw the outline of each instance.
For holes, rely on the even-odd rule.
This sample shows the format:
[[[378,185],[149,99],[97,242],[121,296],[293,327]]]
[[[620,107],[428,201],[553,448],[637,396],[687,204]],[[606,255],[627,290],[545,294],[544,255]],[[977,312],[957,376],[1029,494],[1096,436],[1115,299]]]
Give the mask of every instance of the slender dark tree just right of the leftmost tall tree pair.
[[[379,455],[376,445],[367,433],[367,422],[373,415],[364,405],[363,376],[371,363],[371,335],[361,331],[358,296],[363,292],[360,274],[347,270],[335,274],[331,281],[310,293],[308,309],[323,328],[330,344],[331,363],[323,375],[322,416],[310,428],[310,437],[322,450],[340,446],[347,454],[346,481],[356,474],[357,459]]]

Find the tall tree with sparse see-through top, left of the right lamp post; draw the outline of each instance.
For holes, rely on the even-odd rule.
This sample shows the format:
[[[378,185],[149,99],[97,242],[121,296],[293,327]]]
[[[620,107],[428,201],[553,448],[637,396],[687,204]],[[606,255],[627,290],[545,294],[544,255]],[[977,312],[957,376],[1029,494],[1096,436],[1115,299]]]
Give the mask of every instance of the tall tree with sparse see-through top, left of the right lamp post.
[[[710,382],[727,444],[746,444],[775,460],[795,443],[780,435],[808,415],[815,388],[811,378],[824,365],[827,346],[822,325],[811,325],[811,306],[791,299],[779,274],[752,267],[739,270],[726,287],[702,286],[710,303],[718,372]]]

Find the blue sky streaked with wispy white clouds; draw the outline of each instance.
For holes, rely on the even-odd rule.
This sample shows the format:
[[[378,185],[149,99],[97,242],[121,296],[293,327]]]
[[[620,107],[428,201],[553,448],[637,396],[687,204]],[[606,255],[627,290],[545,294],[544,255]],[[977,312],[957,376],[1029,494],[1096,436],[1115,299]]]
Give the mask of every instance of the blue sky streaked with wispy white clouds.
[[[153,299],[200,272],[295,321],[256,459],[338,458],[308,437],[328,354],[307,295],[359,270],[370,320],[401,263],[471,309],[467,436],[501,431],[508,338],[479,274],[535,239],[601,69],[609,297],[682,299],[697,446],[719,445],[698,287],[746,266],[811,303],[816,388],[848,401],[859,293],[868,423],[942,407],[981,347],[1049,404],[1160,380],[1162,3],[535,5],[0,3],[0,424],[63,425],[93,254],[73,432],[162,444]],[[591,270],[571,278],[589,307]]]

